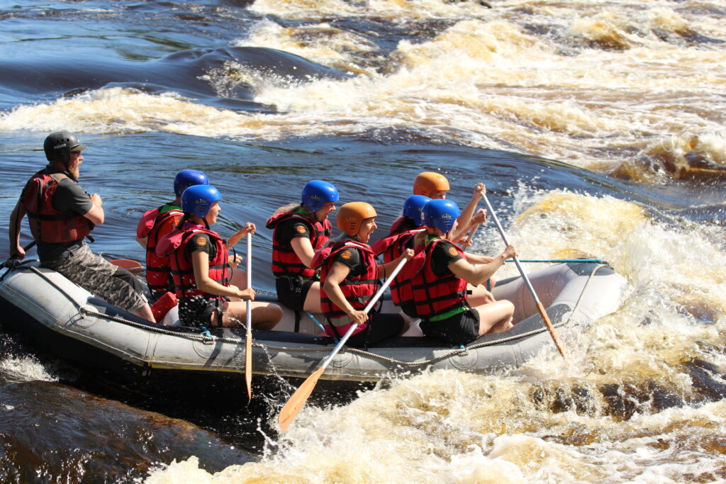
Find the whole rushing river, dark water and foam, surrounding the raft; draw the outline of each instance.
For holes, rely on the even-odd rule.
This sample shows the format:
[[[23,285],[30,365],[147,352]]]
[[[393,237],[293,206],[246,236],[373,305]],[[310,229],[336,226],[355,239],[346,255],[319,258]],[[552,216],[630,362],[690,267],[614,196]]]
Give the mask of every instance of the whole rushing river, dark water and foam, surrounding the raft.
[[[522,258],[603,258],[635,289],[566,340],[569,367],[552,346],[318,398],[284,437],[264,387],[150,403],[0,334],[0,479],[726,480],[726,1],[489,4],[0,0],[6,216],[46,134],[73,131],[104,200],[95,251],[142,260],[136,221],[196,168],[218,231],[257,224],[253,286],[273,290],[262,227],[306,181],[386,227],[433,170],[460,205],[483,181]]]

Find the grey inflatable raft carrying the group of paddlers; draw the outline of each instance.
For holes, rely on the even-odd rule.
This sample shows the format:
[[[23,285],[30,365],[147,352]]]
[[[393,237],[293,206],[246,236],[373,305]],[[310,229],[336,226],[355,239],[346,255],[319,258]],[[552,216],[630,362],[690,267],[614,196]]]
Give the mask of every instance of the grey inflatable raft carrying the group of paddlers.
[[[600,263],[558,263],[528,275],[563,343],[568,335],[616,311],[631,291],[622,276]],[[499,281],[493,292],[495,298],[514,303],[513,329],[485,335],[466,348],[442,348],[441,342],[420,336],[413,327],[407,335],[367,350],[343,348],[322,379],[375,382],[428,369],[489,373],[518,366],[543,348],[555,351],[521,277]],[[4,272],[0,310],[4,327],[27,336],[38,350],[95,369],[128,375],[134,368],[135,374],[146,376],[244,372],[245,329],[212,329],[204,335],[174,325],[170,315],[168,324],[152,324],[36,261]],[[330,353],[335,341],[317,335],[314,320],[322,322],[322,317],[298,316],[296,323],[293,311],[287,311],[274,331],[253,332],[253,373],[305,378]]]

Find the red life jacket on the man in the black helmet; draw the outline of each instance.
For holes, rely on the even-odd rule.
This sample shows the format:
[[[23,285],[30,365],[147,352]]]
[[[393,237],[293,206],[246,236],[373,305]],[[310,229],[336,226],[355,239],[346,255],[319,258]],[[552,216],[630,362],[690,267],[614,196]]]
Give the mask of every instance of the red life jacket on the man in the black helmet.
[[[94,228],[88,218],[73,210],[59,212],[53,208],[53,195],[64,179],[72,180],[64,173],[50,174],[45,168],[25,184],[20,203],[28,212],[30,233],[37,242],[73,242],[83,239]]]

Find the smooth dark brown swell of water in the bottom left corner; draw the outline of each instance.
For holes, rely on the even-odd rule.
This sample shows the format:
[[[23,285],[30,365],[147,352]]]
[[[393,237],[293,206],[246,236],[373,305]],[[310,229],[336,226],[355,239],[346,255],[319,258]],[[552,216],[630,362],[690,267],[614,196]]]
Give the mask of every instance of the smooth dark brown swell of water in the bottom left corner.
[[[62,383],[0,374],[0,401],[3,482],[130,482],[190,456],[210,472],[253,460],[195,424]]]

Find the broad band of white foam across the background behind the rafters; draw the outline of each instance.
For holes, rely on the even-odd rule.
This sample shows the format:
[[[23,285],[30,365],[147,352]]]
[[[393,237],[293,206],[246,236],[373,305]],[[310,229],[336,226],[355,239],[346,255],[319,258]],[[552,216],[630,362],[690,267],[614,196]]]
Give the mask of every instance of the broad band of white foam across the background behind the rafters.
[[[262,20],[237,44],[272,45],[365,74],[290,83],[237,66],[227,79],[214,73],[213,82],[249,83],[255,101],[279,113],[250,115],[113,88],[17,108],[1,115],[0,129],[281,139],[406,126],[434,141],[514,150],[640,181],[664,173],[724,176],[726,49],[682,36],[698,31],[726,40],[725,28],[661,5],[543,15],[558,35],[532,33],[529,16],[497,9],[486,19],[452,21],[425,41],[401,40],[387,56],[361,35],[327,24],[282,28]],[[618,46],[603,46],[603,38],[619,39]],[[375,60],[363,65],[370,55]]]

